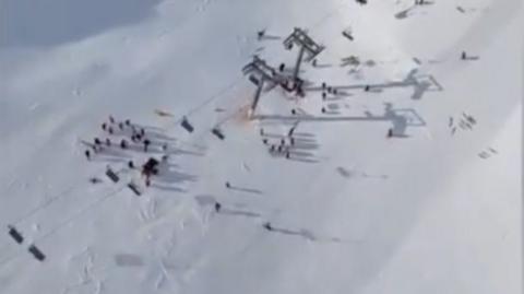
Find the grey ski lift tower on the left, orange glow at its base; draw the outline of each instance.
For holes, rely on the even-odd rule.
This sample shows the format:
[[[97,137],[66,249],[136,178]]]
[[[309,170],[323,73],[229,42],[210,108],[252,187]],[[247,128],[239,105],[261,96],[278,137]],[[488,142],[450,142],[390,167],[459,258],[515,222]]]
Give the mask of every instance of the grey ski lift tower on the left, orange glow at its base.
[[[265,83],[271,82],[275,84],[279,80],[279,77],[276,74],[275,69],[267,66],[265,60],[258,56],[253,56],[253,60],[242,68],[242,72],[243,74],[249,74],[249,81],[258,86],[251,104],[251,113],[254,113]]]

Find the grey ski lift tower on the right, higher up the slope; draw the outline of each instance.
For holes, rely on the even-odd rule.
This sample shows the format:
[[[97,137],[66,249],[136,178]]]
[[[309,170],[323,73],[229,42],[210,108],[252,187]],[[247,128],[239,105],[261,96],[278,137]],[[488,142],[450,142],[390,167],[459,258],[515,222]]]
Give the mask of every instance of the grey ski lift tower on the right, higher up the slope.
[[[307,55],[305,61],[309,62],[320,52],[322,52],[322,50],[324,50],[324,46],[317,44],[311,37],[308,36],[306,31],[299,27],[295,27],[293,33],[284,40],[284,46],[286,47],[286,49],[293,49],[293,45],[300,46],[300,51],[298,52],[297,57],[297,63],[293,73],[293,80],[297,81],[303,55]]]

